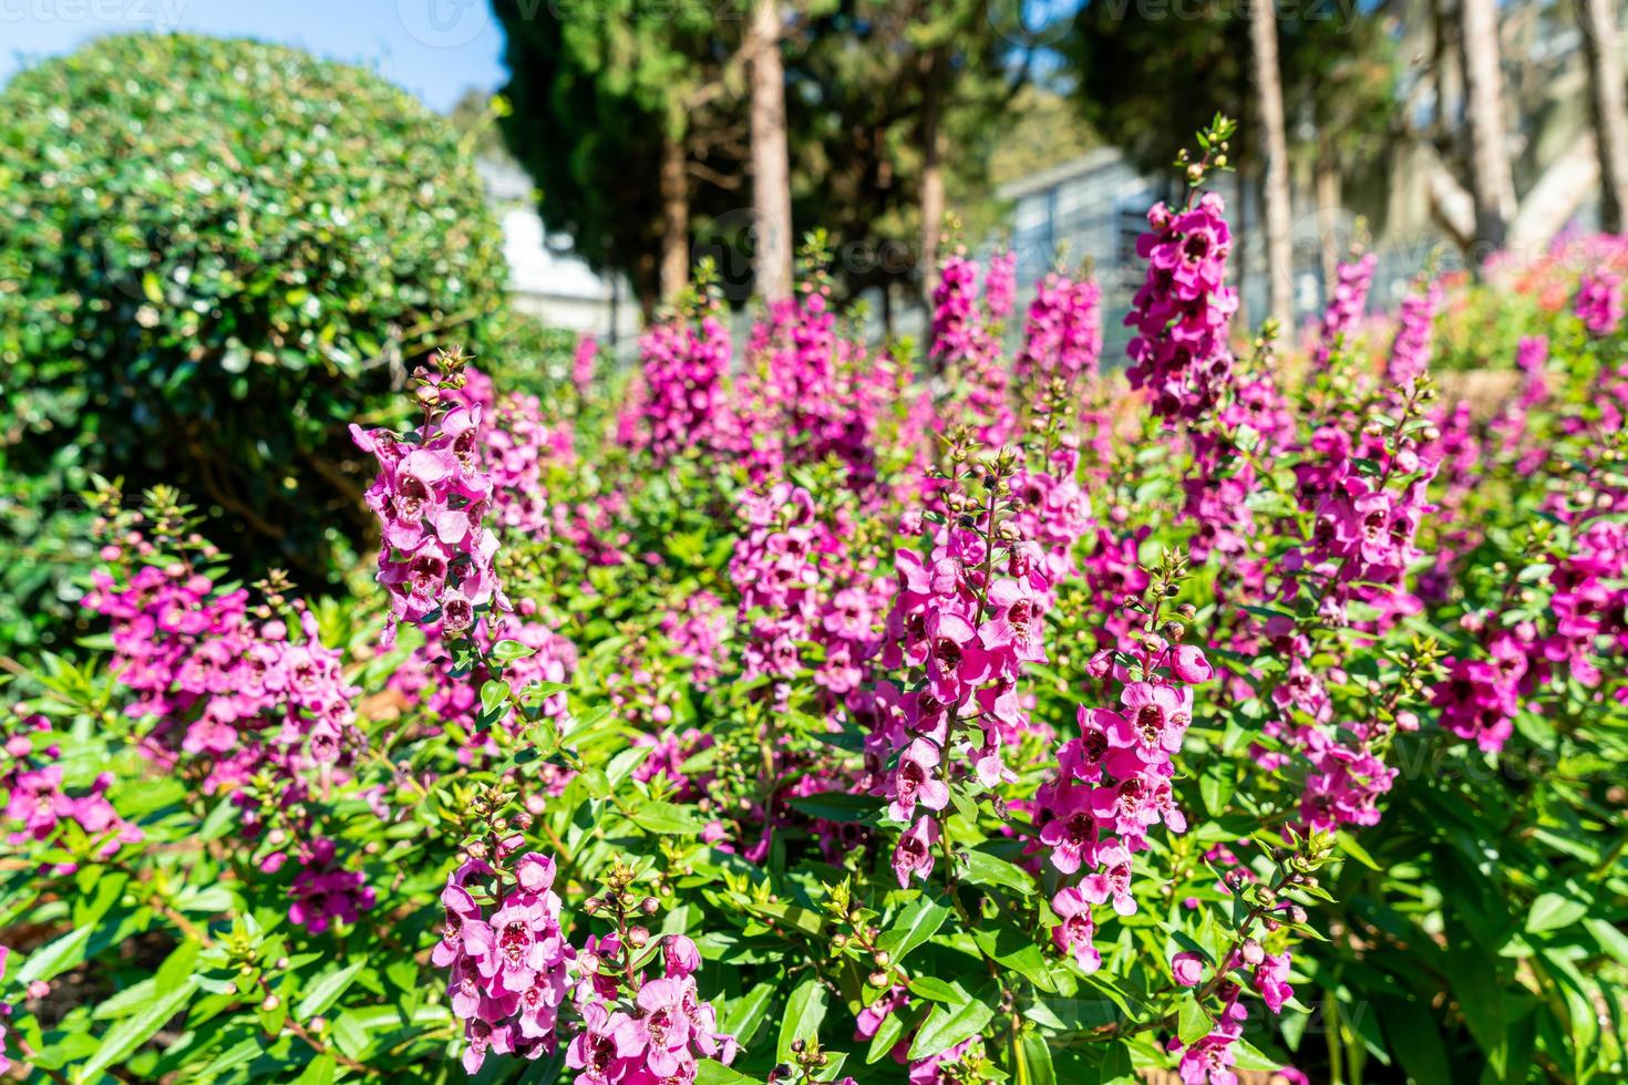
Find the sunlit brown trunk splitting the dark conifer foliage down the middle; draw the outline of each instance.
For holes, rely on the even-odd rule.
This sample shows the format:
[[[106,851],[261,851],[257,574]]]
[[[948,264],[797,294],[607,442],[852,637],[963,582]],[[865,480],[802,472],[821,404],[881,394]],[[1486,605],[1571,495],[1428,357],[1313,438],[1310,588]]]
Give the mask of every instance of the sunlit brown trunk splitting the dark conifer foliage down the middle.
[[[780,0],[755,0],[747,28],[752,80],[752,275],[765,301],[791,296],[791,161]]]

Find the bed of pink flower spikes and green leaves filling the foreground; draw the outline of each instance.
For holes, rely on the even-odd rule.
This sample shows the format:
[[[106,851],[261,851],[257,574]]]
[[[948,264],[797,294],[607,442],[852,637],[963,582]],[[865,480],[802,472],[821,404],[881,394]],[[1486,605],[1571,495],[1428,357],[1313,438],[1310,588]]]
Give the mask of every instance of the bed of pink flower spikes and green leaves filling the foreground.
[[[104,656],[37,659],[0,763],[8,1049],[1620,1080],[1623,281],[1488,345],[1481,410],[1431,377],[1429,283],[1281,364],[1226,335],[1224,130],[1149,211],[1130,381],[1065,272],[1008,366],[1011,264],[949,254],[918,359],[816,247],[739,353],[703,268],[632,387],[438,353],[410,429],[353,429],[352,602],[96,491]]]

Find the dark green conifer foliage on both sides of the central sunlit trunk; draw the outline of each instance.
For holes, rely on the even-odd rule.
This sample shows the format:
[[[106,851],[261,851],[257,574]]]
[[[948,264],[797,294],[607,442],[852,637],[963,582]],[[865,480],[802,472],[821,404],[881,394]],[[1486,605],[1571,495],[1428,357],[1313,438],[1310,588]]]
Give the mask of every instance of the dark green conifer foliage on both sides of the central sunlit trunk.
[[[1026,49],[983,3],[785,3],[793,218],[845,254],[843,293],[920,272],[925,117],[951,151],[946,189],[988,190],[1000,120]],[[510,150],[537,179],[540,213],[596,268],[630,275],[653,307],[663,236],[663,138],[689,163],[690,251],[751,293],[751,177],[742,29],[747,5],[614,3],[534,11],[495,5],[508,34]],[[982,215],[974,226],[993,224]]]

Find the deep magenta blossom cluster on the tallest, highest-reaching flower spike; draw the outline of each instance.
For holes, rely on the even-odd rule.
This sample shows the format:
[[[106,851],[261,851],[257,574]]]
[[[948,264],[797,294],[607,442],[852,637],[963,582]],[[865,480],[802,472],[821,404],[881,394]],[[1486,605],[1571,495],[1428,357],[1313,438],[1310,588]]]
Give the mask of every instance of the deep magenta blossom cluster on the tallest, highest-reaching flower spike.
[[[1136,329],[1127,376],[1133,389],[1148,389],[1153,413],[1166,420],[1203,416],[1232,381],[1228,322],[1237,291],[1224,285],[1232,251],[1224,210],[1214,192],[1182,211],[1156,203],[1151,229],[1136,239],[1148,277],[1125,317]]]

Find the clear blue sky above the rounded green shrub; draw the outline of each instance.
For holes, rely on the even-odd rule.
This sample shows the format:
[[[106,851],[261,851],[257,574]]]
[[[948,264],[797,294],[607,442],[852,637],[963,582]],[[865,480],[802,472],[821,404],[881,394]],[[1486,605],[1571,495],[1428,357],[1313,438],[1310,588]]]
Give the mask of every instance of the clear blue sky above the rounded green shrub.
[[[195,31],[298,46],[373,68],[446,111],[505,80],[487,0],[0,0],[0,85],[101,34]]]

